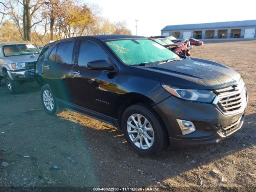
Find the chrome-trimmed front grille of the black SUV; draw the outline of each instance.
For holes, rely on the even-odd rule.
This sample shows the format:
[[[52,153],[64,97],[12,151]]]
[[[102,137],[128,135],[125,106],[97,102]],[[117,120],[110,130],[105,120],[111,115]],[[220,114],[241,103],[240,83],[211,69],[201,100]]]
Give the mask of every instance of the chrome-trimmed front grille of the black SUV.
[[[247,102],[246,88],[242,80],[238,86],[232,86],[231,88],[221,89],[218,91],[218,102],[216,107],[223,114],[234,114],[244,108]]]

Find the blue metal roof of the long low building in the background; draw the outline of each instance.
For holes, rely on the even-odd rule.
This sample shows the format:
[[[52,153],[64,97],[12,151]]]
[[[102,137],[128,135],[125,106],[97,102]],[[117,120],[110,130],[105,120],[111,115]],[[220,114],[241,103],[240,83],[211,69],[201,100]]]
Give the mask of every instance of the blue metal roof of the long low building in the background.
[[[227,28],[227,27],[242,27],[242,26],[256,26],[256,20],[228,21],[228,22],[200,23],[200,24],[184,24],[184,25],[168,25],[168,26],[164,27],[161,31],[206,29],[206,28]]]

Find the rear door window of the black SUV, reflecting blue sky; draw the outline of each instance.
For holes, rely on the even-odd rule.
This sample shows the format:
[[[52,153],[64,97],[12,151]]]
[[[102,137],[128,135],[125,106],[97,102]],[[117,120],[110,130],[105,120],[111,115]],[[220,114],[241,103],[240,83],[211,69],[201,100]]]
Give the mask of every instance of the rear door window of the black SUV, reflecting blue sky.
[[[74,44],[74,41],[66,41],[59,43],[57,46],[55,61],[72,64]]]

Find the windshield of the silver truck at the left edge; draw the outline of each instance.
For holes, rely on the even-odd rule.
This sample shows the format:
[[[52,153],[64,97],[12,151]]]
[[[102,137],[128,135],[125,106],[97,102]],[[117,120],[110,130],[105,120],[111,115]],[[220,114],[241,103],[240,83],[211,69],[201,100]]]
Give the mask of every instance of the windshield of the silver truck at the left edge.
[[[38,48],[33,44],[13,44],[4,46],[4,56],[39,54]]]

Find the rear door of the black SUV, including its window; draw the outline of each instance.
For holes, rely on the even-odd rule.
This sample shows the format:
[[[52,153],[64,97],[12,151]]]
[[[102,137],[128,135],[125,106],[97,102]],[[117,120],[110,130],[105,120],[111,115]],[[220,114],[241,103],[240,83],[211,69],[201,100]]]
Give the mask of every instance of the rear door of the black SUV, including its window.
[[[76,40],[60,42],[51,50],[42,66],[42,77],[55,96],[65,101],[70,101],[75,45]]]

